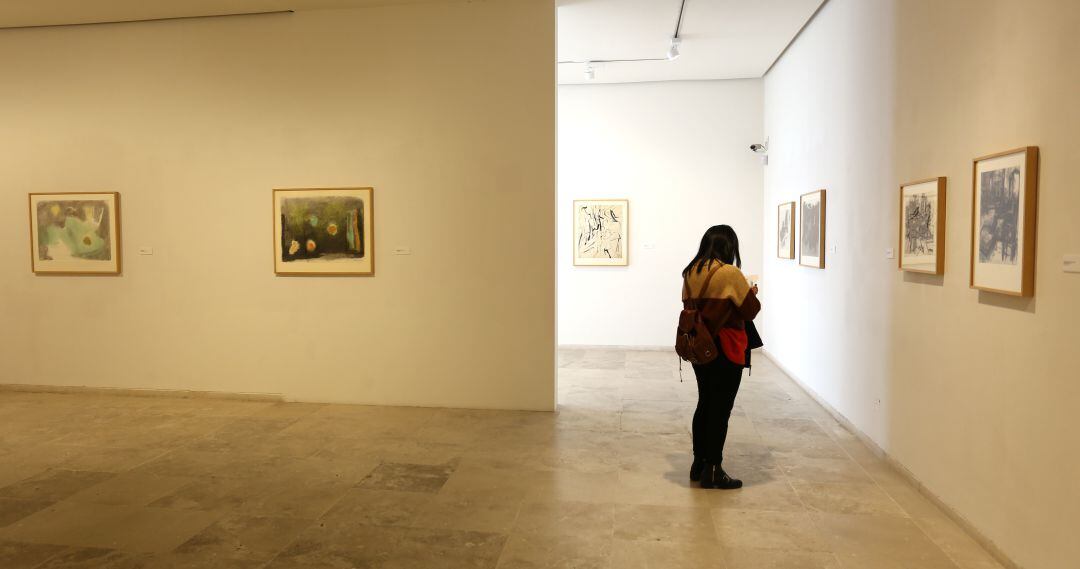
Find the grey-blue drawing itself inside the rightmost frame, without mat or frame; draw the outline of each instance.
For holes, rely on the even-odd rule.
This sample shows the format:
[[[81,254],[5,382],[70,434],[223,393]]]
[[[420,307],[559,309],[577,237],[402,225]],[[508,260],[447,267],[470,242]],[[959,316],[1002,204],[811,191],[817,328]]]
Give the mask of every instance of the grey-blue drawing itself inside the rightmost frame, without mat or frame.
[[[978,262],[1015,266],[1020,256],[1021,171],[1005,167],[980,176]]]

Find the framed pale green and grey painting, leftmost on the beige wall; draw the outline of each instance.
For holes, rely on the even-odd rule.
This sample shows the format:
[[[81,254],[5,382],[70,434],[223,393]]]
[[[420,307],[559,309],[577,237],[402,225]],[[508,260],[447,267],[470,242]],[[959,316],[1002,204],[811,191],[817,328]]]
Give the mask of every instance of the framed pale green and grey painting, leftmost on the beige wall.
[[[119,192],[30,193],[29,211],[35,274],[120,274]]]

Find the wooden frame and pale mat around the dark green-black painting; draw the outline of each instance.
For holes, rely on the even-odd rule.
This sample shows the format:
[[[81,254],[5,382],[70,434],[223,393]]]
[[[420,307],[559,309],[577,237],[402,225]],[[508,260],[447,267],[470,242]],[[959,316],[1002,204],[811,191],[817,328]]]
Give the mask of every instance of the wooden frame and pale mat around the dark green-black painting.
[[[326,190],[274,190],[273,193],[273,239],[274,271],[284,274],[293,273],[370,273],[375,258],[375,211],[372,208],[372,190],[367,188],[337,188]],[[359,198],[364,203],[364,256],[359,259],[297,259],[285,262],[282,260],[281,243],[281,203],[287,199],[302,198]]]

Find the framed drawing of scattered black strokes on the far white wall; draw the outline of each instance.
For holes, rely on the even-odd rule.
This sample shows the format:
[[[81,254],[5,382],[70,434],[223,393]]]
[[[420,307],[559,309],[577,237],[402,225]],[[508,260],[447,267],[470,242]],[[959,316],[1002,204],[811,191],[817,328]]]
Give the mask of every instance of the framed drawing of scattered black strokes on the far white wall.
[[[630,201],[573,201],[573,265],[624,267],[630,262]]]

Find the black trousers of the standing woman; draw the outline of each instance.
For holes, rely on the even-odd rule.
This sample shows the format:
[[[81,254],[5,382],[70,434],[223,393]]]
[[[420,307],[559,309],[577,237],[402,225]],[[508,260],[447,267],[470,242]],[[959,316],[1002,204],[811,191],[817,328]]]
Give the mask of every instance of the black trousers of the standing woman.
[[[724,462],[728,419],[742,383],[743,367],[724,354],[705,365],[693,366],[698,376],[698,408],[693,411],[693,456],[711,464]]]

